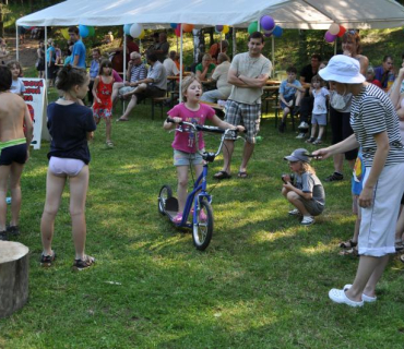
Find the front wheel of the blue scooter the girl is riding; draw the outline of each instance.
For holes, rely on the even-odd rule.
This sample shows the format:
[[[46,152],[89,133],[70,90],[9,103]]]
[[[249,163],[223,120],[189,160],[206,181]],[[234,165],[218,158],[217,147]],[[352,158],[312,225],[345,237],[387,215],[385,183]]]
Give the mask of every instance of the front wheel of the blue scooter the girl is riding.
[[[202,200],[199,206],[197,222],[193,222],[192,239],[197,250],[203,251],[209,246],[213,234],[213,210],[206,200]]]

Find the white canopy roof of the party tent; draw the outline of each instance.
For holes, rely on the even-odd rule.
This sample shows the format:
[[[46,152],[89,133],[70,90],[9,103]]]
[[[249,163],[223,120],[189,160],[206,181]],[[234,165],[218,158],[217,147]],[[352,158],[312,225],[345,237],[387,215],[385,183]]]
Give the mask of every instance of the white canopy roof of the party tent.
[[[328,29],[404,25],[404,8],[393,0],[68,0],[17,20],[24,26],[110,26],[169,23],[247,26],[264,14],[284,28]]]

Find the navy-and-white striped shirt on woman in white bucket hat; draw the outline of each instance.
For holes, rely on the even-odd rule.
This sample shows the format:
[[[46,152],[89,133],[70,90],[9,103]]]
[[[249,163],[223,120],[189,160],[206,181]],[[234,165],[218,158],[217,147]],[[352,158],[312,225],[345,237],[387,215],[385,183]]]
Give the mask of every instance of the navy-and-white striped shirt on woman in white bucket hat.
[[[354,96],[350,107],[350,125],[363,149],[366,167],[371,167],[377,149],[375,135],[387,132],[390,151],[385,166],[404,163],[399,117],[388,95],[373,84],[368,84]]]

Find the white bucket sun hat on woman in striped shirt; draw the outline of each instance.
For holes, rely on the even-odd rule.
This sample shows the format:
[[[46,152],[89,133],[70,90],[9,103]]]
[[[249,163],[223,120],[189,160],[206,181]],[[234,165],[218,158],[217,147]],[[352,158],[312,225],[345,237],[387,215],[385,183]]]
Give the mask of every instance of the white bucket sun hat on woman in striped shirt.
[[[325,81],[335,81],[342,84],[360,84],[365,76],[360,74],[360,64],[356,59],[345,55],[336,55],[329,64],[319,71]]]

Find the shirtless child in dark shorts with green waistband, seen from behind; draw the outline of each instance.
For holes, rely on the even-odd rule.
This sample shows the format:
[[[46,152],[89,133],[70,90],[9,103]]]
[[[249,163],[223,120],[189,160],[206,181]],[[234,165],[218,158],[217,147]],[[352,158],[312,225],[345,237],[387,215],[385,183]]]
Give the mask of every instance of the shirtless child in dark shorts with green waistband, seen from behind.
[[[14,236],[20,233],[20,178],[29,156],[34,130],[25,101],[19,95],[10,93],[11,83],[10,69],[0,65],[0,240],[7,240],[8,233]],[[23,130],[24,123],[26,134]],[[5,228],[5,196],[9,181],[12,200],[11,222]]]

